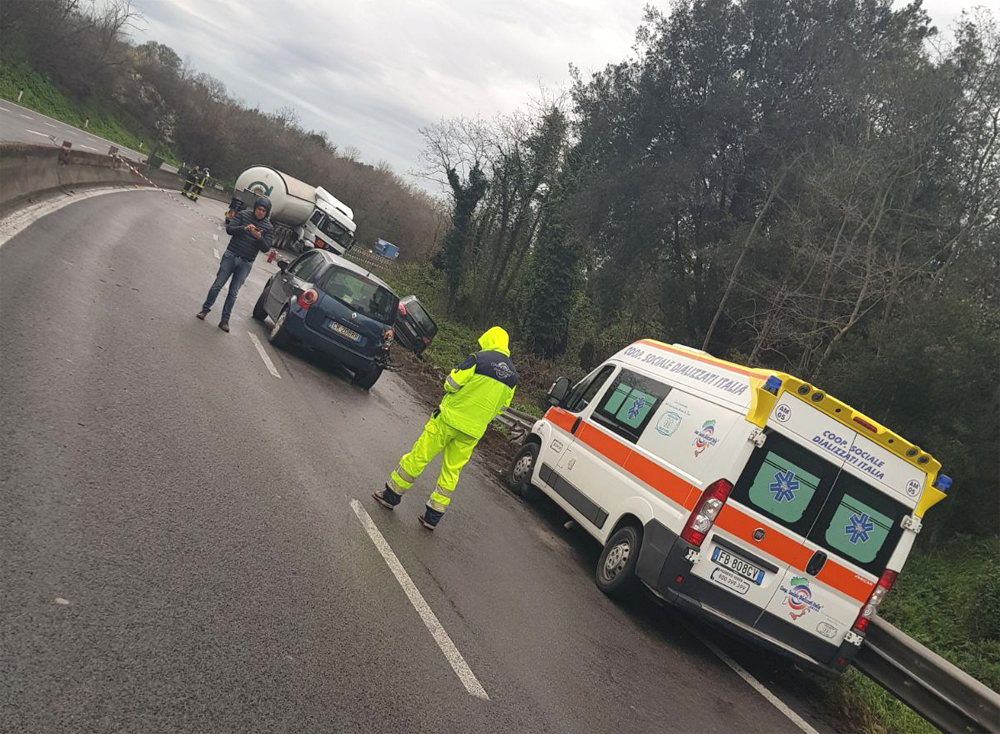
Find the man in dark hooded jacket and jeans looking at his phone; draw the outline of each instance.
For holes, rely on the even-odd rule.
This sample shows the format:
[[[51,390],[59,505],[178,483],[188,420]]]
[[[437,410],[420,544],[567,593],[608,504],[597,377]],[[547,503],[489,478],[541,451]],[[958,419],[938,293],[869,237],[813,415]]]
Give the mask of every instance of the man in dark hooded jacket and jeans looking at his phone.
[[[254,202],[253,209],[244,209],[226,224],[226,233],[233,237],[229,240],[229,247],[222,253],[222,262],[219,263],[219,273],[215,276],[215,282],[208,289],[208,298],[198,313],[198,318],[202,321],[212,310],[212,304],[226,284],[230,276],[229,293],[226,295],[226,302],[222,306],[222,320],[219,328],[229,331],[229,317],[233,313],[233,306],[236,304],[236,296],[240,292],[243,281],[250,275],[253,261],[257,258],[258,252],[267,252],[271,249],[271,233],[274,226],[268,219],[271,213],[271,200],[266,196],[258,196]]]

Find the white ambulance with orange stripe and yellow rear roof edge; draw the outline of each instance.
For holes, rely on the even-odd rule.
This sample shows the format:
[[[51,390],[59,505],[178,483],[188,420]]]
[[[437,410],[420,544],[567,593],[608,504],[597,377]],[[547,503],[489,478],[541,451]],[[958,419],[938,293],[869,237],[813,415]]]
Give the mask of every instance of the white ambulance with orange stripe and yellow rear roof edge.
[[[644,340],[560,378],[507,471],[602,545],[597,586],[654,594],[837,675],[951,479],[796,377]]]

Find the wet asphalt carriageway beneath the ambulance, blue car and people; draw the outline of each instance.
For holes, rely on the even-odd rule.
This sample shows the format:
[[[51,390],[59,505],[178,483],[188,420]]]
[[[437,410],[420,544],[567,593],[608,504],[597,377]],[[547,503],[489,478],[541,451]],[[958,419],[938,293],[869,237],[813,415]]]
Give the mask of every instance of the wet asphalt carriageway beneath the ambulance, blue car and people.
[[[432,472],[395,513],[377,506],[424,404],[399,375],[367,393],[272,349],[250,318],[262,260],[232,333],[218,311],[197,321],[225,239],[133,191],[0,249],[0,730],[801,731],[698,635],[835,730],[822,684],[791,665],[603,596],[599,549],[477,460],[434,534],[416,519]]]

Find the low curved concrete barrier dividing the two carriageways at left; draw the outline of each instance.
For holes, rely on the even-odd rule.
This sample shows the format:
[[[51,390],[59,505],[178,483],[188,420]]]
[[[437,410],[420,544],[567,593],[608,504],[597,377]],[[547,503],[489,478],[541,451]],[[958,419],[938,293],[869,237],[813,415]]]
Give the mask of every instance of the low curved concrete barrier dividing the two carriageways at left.
[[[176,191],[184,186],[182,178],[166,171],[137,168],[160,188]],[[54,146],[0,143],[0,216],[56,191],[135,185],[148,183],[132,173],[125,162],[111,156],[63,151]],[[202,195],[229,203],[224,191],[206,189]]]

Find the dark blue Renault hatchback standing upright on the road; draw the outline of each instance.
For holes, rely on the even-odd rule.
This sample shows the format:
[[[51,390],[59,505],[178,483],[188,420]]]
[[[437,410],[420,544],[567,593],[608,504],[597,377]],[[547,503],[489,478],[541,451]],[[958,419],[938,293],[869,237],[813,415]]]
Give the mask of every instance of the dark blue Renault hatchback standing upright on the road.
[[[291,263],[278,262],[257,299],[253,317],[274,326],[276,347],[299,342],[329,355],[354,373],[366,390],[388,363],[399,299],[364,268],[326,250],[310,250]]]

